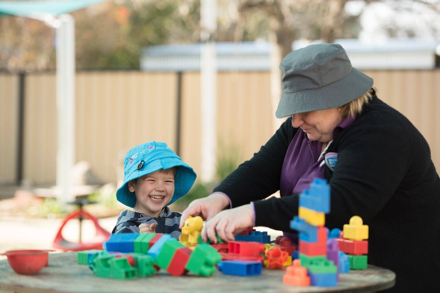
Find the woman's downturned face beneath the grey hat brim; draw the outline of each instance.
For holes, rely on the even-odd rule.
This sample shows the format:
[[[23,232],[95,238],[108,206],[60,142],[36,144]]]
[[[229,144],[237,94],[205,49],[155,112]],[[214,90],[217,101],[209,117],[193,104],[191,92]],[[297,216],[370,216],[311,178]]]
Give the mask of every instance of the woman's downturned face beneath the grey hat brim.
[[[329,142],[341,120],[339,109],[332,108],[292,115],[292,126],[300,127],[311,141]]]

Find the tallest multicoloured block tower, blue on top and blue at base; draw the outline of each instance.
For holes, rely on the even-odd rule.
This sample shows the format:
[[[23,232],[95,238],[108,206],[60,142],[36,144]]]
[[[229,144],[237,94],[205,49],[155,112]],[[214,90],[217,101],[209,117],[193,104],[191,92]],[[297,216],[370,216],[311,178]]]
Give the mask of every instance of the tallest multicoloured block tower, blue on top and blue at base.
[[[315,178],[310,188],[300,194],[298,216],[290,221],[290,228],[299,232],[298,257],[301,264],[295,262],[295,267],[287,270],[286,275],[303,272],[304,270],[299,268],[301,266],[307,269],[310,285],[337,285],[337,242],[329,241],[327,250],[328,230],[324,227],[325,214],[329,212],[330,186],[324,179]],[[290,280],[289,278],[285,277],[286,280]],[[307,286],[305,284],[308,282],[303,276],[301,282],[296,283]]]

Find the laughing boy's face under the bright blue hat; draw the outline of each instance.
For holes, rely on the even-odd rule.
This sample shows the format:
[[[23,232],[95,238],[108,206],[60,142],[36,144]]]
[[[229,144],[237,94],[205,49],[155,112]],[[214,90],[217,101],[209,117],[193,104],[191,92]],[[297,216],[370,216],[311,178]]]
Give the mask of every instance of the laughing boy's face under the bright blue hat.
[[[158,170],[128,182],[128,190],[135,192],[134,210],[152,217],[158,217],[161,210],[174,194],[176,169]]]

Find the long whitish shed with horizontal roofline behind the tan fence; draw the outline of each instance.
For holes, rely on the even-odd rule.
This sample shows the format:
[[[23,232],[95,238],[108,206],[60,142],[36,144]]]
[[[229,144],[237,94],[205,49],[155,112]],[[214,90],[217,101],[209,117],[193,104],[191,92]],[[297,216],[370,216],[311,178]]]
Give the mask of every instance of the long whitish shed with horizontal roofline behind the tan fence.
[[[294,41],[294,50],[321,41]],[[389,39],[381,43],[362,43],[358,39],[340,39],[348,58],[357,69],[434,69],[434,40]],[[439,45],[440,46],[440,45]],[[142,71],[200,71],[200,48],[196,44],[147,47],[140,57]],[[265,41],[216,43],[218,71],[269,71],[271,45]],[[437,57],[438,58],[438,57]],[[438,66],[438,65],[437,65]]]

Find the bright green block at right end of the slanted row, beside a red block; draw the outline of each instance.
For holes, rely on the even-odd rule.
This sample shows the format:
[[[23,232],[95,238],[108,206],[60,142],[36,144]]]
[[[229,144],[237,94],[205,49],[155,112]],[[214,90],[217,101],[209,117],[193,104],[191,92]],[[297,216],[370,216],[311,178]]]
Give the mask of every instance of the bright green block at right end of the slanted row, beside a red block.
[[[216,271],[215,265],[221,260],[220,254],[208,244],[199,244],[191,253],[185,269],[195,275],[208,277]]]

